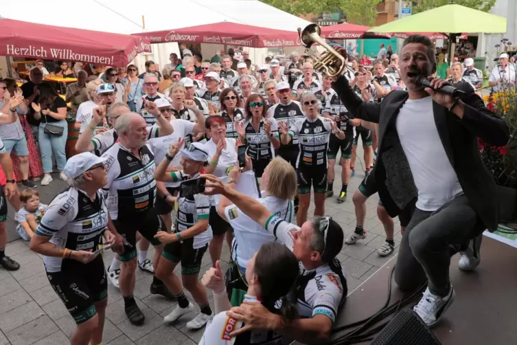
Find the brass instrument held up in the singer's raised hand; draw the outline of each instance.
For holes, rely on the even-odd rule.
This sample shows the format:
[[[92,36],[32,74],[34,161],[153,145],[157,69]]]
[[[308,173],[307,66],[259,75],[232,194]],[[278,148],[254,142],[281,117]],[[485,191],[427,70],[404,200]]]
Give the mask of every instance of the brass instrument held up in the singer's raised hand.
[[[298,34],[300,35],[302,45],[306,47],[306,55],[314,60],[313,67],[317,71],[334,77],[341,75],[343,69],[348,67],[345,58],[336,52],[334,48],[330,47],[324,38],[321,38],[321,27],[319,27],[319,25],[309,24],[303,30],[299,27]],[[310,49],[310,46],[314,43],[321,45],[327,52],[321,54],[321,56],[317,54],[317,52],[314,52]]]

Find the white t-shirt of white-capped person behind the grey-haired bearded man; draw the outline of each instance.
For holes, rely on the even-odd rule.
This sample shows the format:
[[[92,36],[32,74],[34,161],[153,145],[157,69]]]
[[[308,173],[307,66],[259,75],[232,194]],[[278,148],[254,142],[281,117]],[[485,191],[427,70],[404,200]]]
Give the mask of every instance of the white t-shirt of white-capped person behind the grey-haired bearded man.
[[[147,143],[151,148],[152,155],[154,155],[154,163],[158,166],[158,164],[163,161],[165,158],[165,154],[169,152],[169,146],[178,142],[180,138],[184,138],[189,134],[192,134],[192,129],[196,125],[195,122],[190,122],[187,120],[172,120],[170,122],[172,128],[174,128],[174,132],[170,135],[165,135],[163,137],[156,137],[151,140],[148,140]],[[174,159],[170,162],[169,166],[180,168],[180,160],[181,160],[181,152],[177,153],[174,156]],[[165,182],[166,187],[177,187],[180,182]]]

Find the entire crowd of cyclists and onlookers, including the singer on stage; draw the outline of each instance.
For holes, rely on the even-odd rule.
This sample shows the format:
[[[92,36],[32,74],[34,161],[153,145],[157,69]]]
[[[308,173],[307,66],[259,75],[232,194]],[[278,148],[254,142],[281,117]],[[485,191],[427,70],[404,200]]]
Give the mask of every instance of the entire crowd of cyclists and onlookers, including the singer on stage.
[[[314,70],[310,56],[253,65],[236,61],[233,50],[205,61],[184,48],[181,60],[171,54],[161,71],[147,61],[141,74],[135,65],[86,71],[64,63],[62,76],[78,79],[65,100],[43,81],[43,65],[30,70],[21,89],[16,80],[0,80],[2,192],[18,210],[17,231],[44,256],[49,282],[76,321],[72,344],[102,344],[108,281],[122,293],[129,322],[145,322],[133,296],[137,267],[153,274],[152,294],[177,302],[164,322],[196,309],[189,291],[199,311],[187,329],[207,325],[200,344],[328,340],[347,296],[336,256],[343,243],[367,236],[365,203],[377,192],[386,232],[377,252],[393,252],[398,216],[395,280],[406,291],[428,279],[415,311],[436,324],[455,297],[451,248],[462,254],[461,269],[475,269],[480,234],[496,225],[494,183],[471,144],[483,137],[503,145],[508,137],[476,96],[479,74],[468,59],[465,71],[453,63],[444,80],[432,43],[415,35],[400,58],[381,47],[371,69],[336,47],[348,66],[333,78]],[[433,76],[431,88],[415,84],[422,75]],[[433,90],[446,82],[470,96],[455,100]],[[78,154],[67,160],[71,115],[80,135]],[[345,238],[325,216],[325,199],[334,194],[340,150],[336,202],[347,199],[359,138],[365,178],[352,197],[356,227]],[[27,188],[21,193],[13,148]],[[49,205],[40,203],[28,175],[31,150],[41,153],[42,185],[52,181],[54,156],[69,186]],[[15,270],[19,264],[5,256],[3,194],[0,265]],[[222,258],[225,241],[229,258]],[[116,255],[104,269],[107,249]],[[207,252],[212,267],[199,280]],[[227,272],[220,259],[231,263]]]

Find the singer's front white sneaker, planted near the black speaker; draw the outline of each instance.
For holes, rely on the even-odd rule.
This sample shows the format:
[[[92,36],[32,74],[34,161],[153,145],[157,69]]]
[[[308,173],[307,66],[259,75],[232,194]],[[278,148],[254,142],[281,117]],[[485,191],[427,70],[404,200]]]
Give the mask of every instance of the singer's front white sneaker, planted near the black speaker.
[[[433,293],[430,293],[429,288],[427,288],[426,291],[424,291],[422,300],[413,307],[413,310],[424,320],[427,326],[434,326],[444,315],[448,307],[450,307],[455,296],[456,293],[452,285],[450,286],[449,293],[445,297],[433,295]]]

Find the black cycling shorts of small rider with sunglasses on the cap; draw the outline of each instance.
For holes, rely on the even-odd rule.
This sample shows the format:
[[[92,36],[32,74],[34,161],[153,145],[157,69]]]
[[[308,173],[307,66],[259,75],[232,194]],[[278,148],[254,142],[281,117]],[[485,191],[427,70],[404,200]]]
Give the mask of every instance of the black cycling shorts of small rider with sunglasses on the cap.
[[[207,251],[208,244],[198,249],[194,249],[194,238],[187,238],[183,243],[176,241],[165,245],[161,256],[172,263],[181,262],[181,274],[183,276],[192,276],[199,274],[201,269],[201,260]]]

